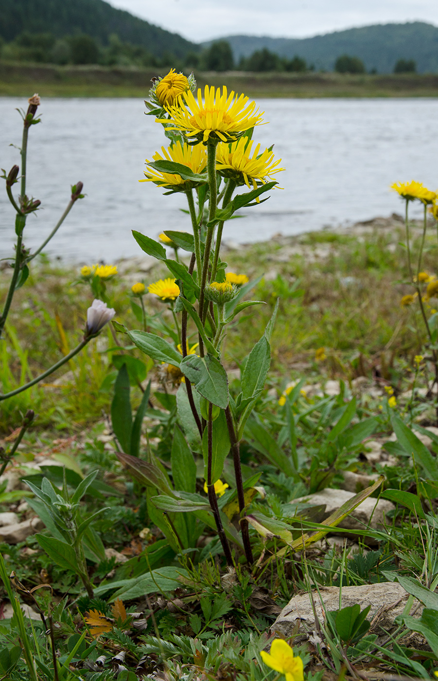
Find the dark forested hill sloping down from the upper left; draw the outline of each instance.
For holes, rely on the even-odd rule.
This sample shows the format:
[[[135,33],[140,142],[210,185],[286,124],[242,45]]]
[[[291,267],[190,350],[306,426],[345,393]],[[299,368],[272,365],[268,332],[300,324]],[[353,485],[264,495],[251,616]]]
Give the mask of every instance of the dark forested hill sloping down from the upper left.
[[[127,43],[143,46],[156,57],[171,52],[184,57],[197,50],[176,33],[169,33],[103,0],[1,0],[0,36],[9,42],[17,35],[53,33],[57,38],[86,33],[101,44],[116,34]]]

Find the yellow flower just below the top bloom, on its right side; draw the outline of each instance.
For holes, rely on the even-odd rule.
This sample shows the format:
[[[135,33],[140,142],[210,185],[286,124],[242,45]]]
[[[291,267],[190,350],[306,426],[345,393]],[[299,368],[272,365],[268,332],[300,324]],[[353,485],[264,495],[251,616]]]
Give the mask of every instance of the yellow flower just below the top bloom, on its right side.
[[[250,189],[251,183],[256,189],[258,184],[265,184],[265,178],[272,180],[271,175],[284,170],[284,168],[277,168],[282,159],[274,161],[272,151],[265,149],[260,154],[260,144],[257,144],[251,153],[253,144],[253,140],[248,140],[246,137],[241,137],[232,144],[224,142],[218,144],[216,169],[220,175],[231,178],[238,185],[245,184]]]

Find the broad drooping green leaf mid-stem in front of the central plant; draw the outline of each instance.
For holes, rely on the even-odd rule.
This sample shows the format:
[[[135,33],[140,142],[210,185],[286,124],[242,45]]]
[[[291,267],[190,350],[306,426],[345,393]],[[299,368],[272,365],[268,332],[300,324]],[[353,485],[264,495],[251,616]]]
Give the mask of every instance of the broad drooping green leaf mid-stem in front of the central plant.
[[[212,355],[187,355],[182,359],[180,369],[206,400],[221,409],[228,407],[228,377],[219,360]]]

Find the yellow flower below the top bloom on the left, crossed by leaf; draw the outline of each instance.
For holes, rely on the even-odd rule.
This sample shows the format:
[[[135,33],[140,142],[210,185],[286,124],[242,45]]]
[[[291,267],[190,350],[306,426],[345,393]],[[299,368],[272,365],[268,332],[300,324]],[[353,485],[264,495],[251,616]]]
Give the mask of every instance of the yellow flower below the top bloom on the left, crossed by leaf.
[[[174,161],[174,163],[186,165],[187,168],[190,168],[192,172],[197,174],[202,173],[207,168],[207,153],[205,148],[199,144],[190,146],[187,142],[182,144],[182,142],[178,141],[171,144],[167,149],[162,146],[161,151],[163,156],[158,151],[154,153],[152,156],[154,161]],[[150,163],[150,161],[146,159],[146,163]],[[145,170],[144,174],[146,178],[139,180],[139,182],[153,182],[157,187],[166,187],[174,191],[186,191],[186,189],[193,186],[190,180],[183,180],[180,175],[173,175],[168,172],[153,170],[152,168],[151,170]]]

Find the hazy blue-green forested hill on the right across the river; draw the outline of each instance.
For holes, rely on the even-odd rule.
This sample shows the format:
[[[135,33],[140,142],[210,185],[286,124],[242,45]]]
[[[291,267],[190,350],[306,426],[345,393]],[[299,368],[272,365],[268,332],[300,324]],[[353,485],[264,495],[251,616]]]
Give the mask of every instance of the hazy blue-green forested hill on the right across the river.
[[[351,54],[362,59],[367,71],[389,73],[397,60],[414,59],[418,72],[438,72],[438,27],[420,21],[365,26],[311,38],[230,35],[221,39],[229,42],[236,61],[267,48],[288,59],[298,54],[316,69],[327,71],[333,70],[341,54]]]

